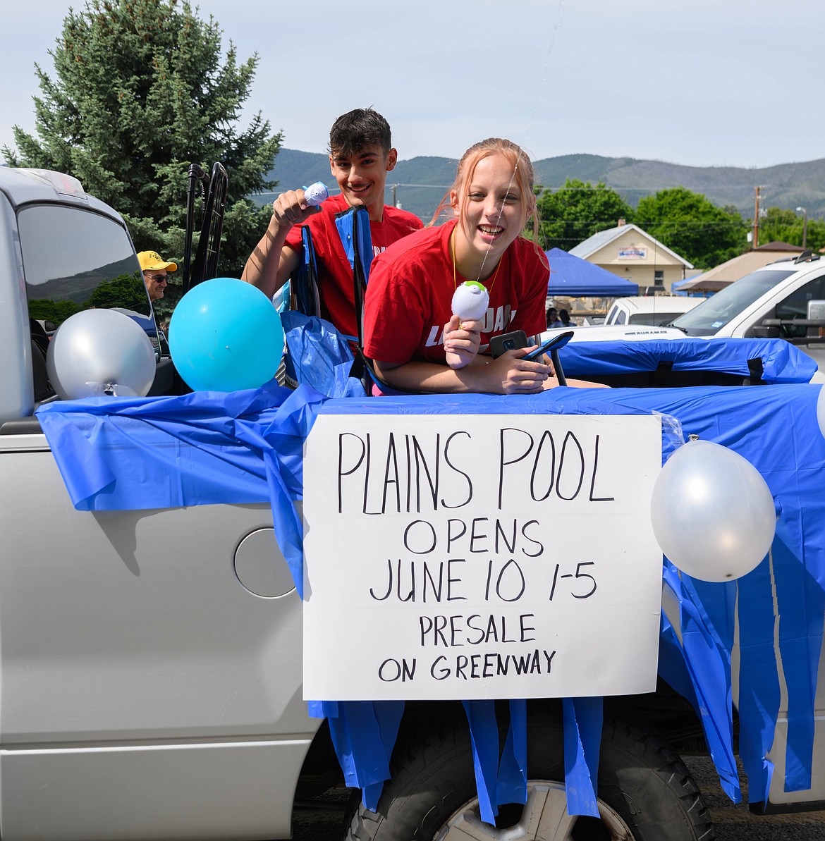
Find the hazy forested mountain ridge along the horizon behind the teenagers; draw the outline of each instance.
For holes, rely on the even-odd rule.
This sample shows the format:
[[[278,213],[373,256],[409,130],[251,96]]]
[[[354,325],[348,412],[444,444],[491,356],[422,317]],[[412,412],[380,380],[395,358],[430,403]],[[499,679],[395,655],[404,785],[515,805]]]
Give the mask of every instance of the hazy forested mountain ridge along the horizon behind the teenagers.
[[[456,165],[456,159],[439,156],[415,156],[398,161],[387,178],[385,200],[392,204],[395,185],[400,204],[427,222],[452,183]],[[546,189],[563,187],[568,178],[593,184],[605,182],[634,207],[643,196],[684,187],[702,193],[720,207],[732,205],[743,217],[752,219],[754,188],[759,186],[762,208],[805,207],[809,219],[825,214],[825,158],[773,167],[687,167],[667,161],[583,153],[533,161],[533,170],[537,184]],[[283,190],[316,181],[336,188],[328,157],[320,152],[282,149],[268,177],[277,180],[278,187],[271,194],[253,196],[258,204],[271,202]]]

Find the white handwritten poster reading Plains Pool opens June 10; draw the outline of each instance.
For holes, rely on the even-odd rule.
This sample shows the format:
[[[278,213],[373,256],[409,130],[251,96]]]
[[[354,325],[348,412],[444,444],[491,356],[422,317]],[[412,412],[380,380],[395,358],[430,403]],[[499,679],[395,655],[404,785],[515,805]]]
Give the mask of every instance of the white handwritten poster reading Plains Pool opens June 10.
[[[304,698],[656,685],[653,416],[320,415],[304,448]]]

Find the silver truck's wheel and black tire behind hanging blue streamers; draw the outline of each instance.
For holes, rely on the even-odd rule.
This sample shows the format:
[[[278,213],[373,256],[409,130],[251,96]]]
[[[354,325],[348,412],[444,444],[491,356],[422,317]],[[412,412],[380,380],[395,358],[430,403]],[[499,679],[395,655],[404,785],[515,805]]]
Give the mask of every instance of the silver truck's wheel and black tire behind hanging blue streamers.
[[[705,801],[681,759],[636,725],[605,723],[600,819],[569,817],[562,731],[547,717],[528,732],[526,807],[503,807],[500,828],[481,822],[466,724],[418,729],[397,746],[377,812],[360,806],[350,841],[712,841]],[[510,827],[505,835],[501,829]]]

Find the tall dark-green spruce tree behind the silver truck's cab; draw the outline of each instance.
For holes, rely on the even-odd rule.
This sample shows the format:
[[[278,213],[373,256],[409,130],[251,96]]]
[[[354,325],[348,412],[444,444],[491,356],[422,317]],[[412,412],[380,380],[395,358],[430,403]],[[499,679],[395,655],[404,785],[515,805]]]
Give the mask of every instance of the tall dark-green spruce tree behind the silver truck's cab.
[[[195,10],[197,12],[197,9]],[[14,128],[12,166],[68,172],[124,216],[138,251],[180,261],[190,163],[229,173],[220,271],[240,277],[270,211],[246,200],[270,189],[281,135],[261,114],[238,128],[257,56],[239,63],[221,30],[177,0],[89,0],[69,11],[50,55],[55,77],[35,71],[36,135]]]

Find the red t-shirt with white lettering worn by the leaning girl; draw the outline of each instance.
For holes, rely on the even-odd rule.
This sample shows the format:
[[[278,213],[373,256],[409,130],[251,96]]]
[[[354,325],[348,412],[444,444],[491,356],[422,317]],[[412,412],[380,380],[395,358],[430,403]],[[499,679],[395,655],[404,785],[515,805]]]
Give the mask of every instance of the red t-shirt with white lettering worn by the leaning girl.
[[[388,248],[373,261],[364,304],[364,352],[378,362],[403,364],[410,359],[445,364],[444,325],[452,316],[450,234],[456,222],[425,228]],[[475,278],[456,275],[456,283]],[[481,347],[490,336],[545,330],[544,305],[550,267],[530,241],[518,237],[501,257],[489,289]]]

